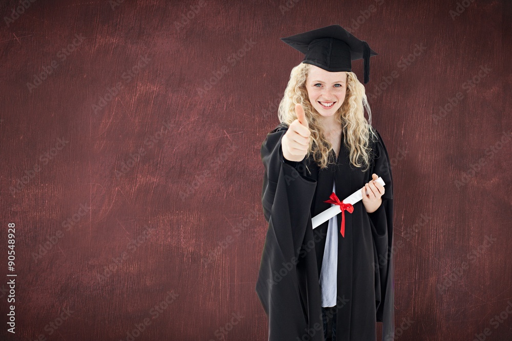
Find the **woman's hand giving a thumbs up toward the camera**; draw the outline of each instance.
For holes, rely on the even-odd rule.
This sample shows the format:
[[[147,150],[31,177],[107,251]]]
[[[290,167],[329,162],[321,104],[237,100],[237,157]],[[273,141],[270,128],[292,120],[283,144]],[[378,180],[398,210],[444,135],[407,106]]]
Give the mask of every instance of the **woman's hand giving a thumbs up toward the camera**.
[[[297,119],[290,124],[281,141],[283,157],[288,161],[300,162],[308,153],[311,131],[306,113],[301,104],[295,104]]]

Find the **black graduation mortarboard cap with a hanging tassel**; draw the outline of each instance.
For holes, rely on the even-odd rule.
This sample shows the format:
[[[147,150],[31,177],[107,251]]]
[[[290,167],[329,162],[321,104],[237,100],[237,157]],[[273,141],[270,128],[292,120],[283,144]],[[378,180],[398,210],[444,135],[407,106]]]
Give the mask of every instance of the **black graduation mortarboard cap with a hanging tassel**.
[[[326,26],[281,38],[306,56],[303,63],[329,72],[352,71],[352,60],[365,59],[365,84],[370,80],[370,57],[378,53],[339,25]]]

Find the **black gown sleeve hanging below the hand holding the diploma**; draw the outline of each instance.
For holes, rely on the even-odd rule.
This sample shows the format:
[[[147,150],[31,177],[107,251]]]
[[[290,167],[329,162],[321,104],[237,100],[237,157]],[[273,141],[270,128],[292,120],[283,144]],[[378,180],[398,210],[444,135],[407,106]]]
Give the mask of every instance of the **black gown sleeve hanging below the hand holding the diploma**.
[[[384,180],[385,192],[382,203],[372,213],[368,213],[372,228],[375,251],[375,306],[376,321],[382,322],[382,339],[394,335],[394,270],[393,270],[393,177],[388,151],[382,138],[375,130],[378,139],[374,144],[375,157],[371,174]]]

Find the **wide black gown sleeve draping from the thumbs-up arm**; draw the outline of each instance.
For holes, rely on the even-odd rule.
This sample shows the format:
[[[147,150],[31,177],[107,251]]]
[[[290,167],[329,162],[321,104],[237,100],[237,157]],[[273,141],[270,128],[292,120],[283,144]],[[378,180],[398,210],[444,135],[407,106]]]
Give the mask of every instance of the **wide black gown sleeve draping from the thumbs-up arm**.
[[[269,341],[295,341],[314,323],[322,322],[315,304],[318,285],[315,289],[313,282],[307,283],[318,282],[315,254],[302,248],[313,240],[311,203],[316,181],[297,170],[302,170],[302,162],[285,162],[281,149],[285,132],[283,127],[274,129],[261,147],[262,204],[268,229],[255,290],[268,316]],[[310,339],[323,340],[323,334]]]

